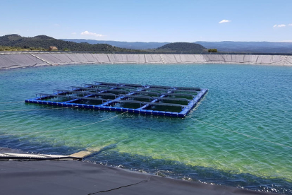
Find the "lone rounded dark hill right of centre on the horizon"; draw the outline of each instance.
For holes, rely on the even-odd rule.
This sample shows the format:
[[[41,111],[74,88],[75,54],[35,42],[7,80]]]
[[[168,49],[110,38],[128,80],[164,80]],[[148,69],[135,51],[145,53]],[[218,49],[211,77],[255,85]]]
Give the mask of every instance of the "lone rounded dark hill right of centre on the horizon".
[[[184,53],[197,53],[207,52],[207,49],[200,44],[190,42],[174,42],[166,44],[162,47],[155,49],[155,52],[184,52]]]

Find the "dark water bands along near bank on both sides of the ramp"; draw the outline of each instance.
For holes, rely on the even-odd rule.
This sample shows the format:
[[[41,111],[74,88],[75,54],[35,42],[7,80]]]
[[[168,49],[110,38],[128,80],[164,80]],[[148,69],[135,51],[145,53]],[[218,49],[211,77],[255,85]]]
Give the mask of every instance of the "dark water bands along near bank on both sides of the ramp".
[[[124,140],[129,141],[129,140]],[[123,141],[122,141],[123,142]],[[241,187],[257,191],[269,191],[279,194],[292,194],[292,182],[284,178],[264,178],[248,173],[234,173],[217,170],[211,167],[190,166],[174,160],[154,159],[150,156],[118,153],[114,150],[118,143],[105,146],[92,153],[86,161],[101,165],[121,167],[128,170],[147,172],[152,175],[171,177],[193,182],[219,184],[230,187]],[[20,140],[13,136],[1,136],[0,147],[20,149],[28,153],[46,153],[53,155],[70,155],[86,148],[63,145],[52,146],[49,143],[38,143],[36,140]]]

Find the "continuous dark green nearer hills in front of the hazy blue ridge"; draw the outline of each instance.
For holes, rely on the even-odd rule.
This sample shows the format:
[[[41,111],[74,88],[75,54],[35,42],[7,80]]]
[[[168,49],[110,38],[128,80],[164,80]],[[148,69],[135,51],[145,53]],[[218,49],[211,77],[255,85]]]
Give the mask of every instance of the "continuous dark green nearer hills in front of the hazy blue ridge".
[[[125,49],[108,44],[89,44],[87,42],[71,42],[56,40],[53,37],[39,35],[21,37],[20,35],[4,35],[0,37],[1,51],[48,51],[49,47],[57,47],[59,51],[90,52],[135,52],[135,53],[202,53],[207,49],[202,45],[189,42],[174,42],[157,49]]]

